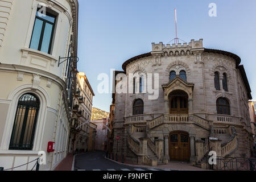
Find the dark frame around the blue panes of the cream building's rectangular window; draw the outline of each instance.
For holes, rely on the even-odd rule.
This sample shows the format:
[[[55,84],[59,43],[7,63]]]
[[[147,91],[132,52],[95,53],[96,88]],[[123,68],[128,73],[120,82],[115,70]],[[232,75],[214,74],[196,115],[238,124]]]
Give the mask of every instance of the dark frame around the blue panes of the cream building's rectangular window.
[[[37,15],[37,13],[39,12],[38,10],[40,10],[39,8],[36,10],[36,15],[35,15],[35,20],[34,20],[34,25],[33,25],[33,30],[32,30],[32,34],[31,34],[31,38],[30,38],[30,48],[31,48],[31,43],[32,43],[32,37],[33,37],[33,34],[34,34],[34,29],[35,29],[35,23],[36,23],[36,19],[39,19],[39,20],[42,20],[43,21],[43,25],[42,25],[42,29],[41,29],[41,34],[40,34],[40,39],[39,39],[39,43],[38,43],[38,49],[36,49],[37,51],[41,51],[42,49],[42,42],[43,42],[43,38],[44,38],[44,30],[46,28],[46,23],[49,23],[52,25],[52,32],[51,32],[51,39],[50,39],[50,42],[49,42],[49,48],[48,48],[48,53],[49,55],[51,55],[51,51],[52,51],[52,42],[53,42],[53,35],[54,35],[54,32],[55,32],[55,28],[56,28],[56,20],[57,20],[57,15],[54,15],[52,13],[49,13],[47,10],[46,10],[46,15],[47,16],[51,16],[54,19],[54,23],[46,20],[46,19],[43,19],[41,18],[40,16]],[[43,52],[43,51],[42,51]]]

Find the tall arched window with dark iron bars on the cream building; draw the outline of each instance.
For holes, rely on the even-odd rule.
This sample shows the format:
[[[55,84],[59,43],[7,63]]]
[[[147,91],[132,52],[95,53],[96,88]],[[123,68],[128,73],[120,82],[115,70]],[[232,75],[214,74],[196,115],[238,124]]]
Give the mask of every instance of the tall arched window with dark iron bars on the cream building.
[[[40,101],[34,94],[19,98],[9,150],[32,150]]]

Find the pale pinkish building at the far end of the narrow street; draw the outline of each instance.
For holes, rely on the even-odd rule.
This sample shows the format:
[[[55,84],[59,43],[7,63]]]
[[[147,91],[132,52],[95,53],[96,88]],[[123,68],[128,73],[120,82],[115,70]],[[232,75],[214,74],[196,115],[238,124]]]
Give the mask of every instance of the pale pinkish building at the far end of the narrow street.
[[[106,151],[109,118],[97,119],[91,122],[97,125],[95,150]]]

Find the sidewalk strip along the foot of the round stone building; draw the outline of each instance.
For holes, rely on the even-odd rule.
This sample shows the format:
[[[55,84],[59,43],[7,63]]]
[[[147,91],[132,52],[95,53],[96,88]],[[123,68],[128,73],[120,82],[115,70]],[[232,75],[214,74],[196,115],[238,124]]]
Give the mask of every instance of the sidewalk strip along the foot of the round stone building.
[[[109,159],[109,158],[106,158]],[[112,156],[110,158],[110,160],[112,160]],[[122,163],[122,156],[118,156],[118,161],[115,160],[115,155],[114,155],[114,162],[116,163]],[[163,164],[163,165],[159,165],[156,167],[152,167],[152,166],[147,166],[147,165],[138,165],[138,164],[134,164],[134,163],[130,163],[129,161],[125,160],[124,164],[128,164],[131,166],[137,166],[137,167],[146,167],[146,168],[155,168],[155,169],[173,169],[173,170],[179,170],[179,171],[185,171],[185,170],[189,170],[189,171],[206,171],[206,169],[202,169],[199,167],[195,167],[195,166],[191,166],[190,163],[185,163],[185,162],[169,162],[168,164]]]

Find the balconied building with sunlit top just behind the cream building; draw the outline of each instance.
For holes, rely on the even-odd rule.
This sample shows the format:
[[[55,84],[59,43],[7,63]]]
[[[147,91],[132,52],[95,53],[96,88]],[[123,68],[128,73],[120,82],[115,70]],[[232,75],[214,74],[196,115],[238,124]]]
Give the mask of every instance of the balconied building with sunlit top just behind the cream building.
[[[69,152],[88,151],[90,117],[94,92],[84,72],[77,73],[76,94],[73,101]]]

